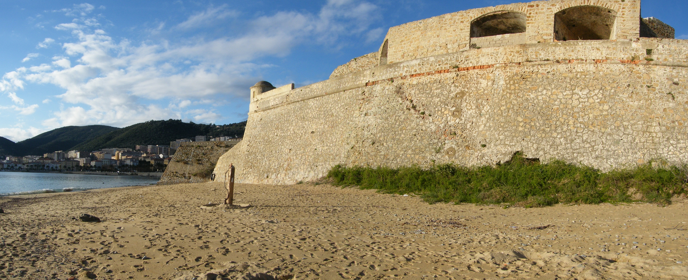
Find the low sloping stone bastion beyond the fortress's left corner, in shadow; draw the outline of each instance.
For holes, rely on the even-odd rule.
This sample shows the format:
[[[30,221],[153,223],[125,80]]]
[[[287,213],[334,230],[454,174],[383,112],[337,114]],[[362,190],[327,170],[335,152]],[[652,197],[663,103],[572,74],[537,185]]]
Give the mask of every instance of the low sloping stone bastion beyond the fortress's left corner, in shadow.
[[[202,183],[210,180],[219,156],[240,141],[182,142],[158,185]]]

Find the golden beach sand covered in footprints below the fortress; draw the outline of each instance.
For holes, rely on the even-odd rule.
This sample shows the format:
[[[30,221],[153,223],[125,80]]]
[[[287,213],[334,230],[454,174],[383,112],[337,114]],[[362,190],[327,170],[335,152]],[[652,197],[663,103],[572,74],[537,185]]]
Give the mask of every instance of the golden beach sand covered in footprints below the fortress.
[[[235,189],[253,207],[201,209],[223,200],[217,183],[1,198],[0,278],[688,279],[685,200],[502,209],[314,183]]]

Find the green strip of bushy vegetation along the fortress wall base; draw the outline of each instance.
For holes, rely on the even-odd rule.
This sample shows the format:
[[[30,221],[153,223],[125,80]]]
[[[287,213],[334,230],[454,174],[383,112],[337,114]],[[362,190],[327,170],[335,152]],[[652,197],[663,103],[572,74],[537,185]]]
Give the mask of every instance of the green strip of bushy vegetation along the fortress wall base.
[[[420,167],[344,167],[327,173],[334,185],[378,189],[387,194],[418,194],[429,203],[468,202],[522,207],[557,203],[652,202],[669,205],[685,194],[686,167],[654,161],[633,169],[600,172],[564,161],[540,163],[521,152],[495,167],[436,165]]]

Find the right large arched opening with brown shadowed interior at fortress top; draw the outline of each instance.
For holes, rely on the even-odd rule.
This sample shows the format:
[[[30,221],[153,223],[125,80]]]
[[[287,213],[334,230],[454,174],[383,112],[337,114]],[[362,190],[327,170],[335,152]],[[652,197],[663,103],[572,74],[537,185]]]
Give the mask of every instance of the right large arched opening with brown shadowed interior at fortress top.
[[[555,14],[556,40],[610,40],[616,11],[580,5]]]

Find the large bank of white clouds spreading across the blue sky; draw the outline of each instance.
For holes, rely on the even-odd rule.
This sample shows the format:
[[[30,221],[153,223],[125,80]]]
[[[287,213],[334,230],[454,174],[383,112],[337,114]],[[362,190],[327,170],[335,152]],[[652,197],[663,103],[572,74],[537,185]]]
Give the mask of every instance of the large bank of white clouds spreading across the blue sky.
[[[147,41],[140,45],[127,39],[116,41],[104,30],[92,30],[98,26],[97,21],[83,16],[93,9],[93,5],[84,3],[60,10],[81,16],[72,23],[55,26],[73,36],[71,42],[63,43],[64,54],[55,56],[52,64],[21,67],[0,80],[0,90],[6,92],[23,89],[25,82],[64,89],[56,97],[73,105],[45,119],[46,128],[88,124],[122,127],[150,119],[189,116],[195,121],[214,122],[222,115],[213,110],[194,110],[193,106],[217,104],[218,97],[220,102],[246,100],[248,86],[255,83],[253,73],[264,67],[253,60],[284,56],[303,43],[330,45],[339,36],[379,36],[378,31],[369,30],[376,20],[377,7],[350,0],[329,1],[318,14],[277,12],[260,16],[250,21],[245,34],[234,37],[183,43]],[[235,14],[226,5],[211,7],[173,28],[198,27],[227,16]],[[162,28],[164,23],[159,25]],[[54,43],[48,39],[39,47]],[[155,105],[154,100],[164,99],[176,101],[169,102],[166,108]],[[38,105],[8,108],[30,114]]]

